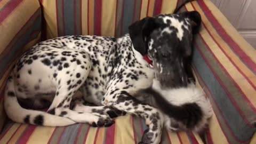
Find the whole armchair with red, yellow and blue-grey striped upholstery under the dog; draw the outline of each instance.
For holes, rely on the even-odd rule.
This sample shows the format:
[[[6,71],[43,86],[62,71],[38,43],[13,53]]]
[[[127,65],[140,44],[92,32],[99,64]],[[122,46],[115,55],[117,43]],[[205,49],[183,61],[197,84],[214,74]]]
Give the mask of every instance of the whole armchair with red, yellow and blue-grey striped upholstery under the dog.
[[[4,114],[3,91],[13,63],[43,39],[64,35],[121,36],[132,22],[172,13],[182,0],[0,0],[0,143],[137,143],[145,122],[118,117],[107,128],[74,124],[42,127],[13,123]],[[248,44],[210,0],[187,4],[202,28],[196,37],[193,70],[214,114],[203,137],[163,131],[165,143],[256,143],[256,47]]]

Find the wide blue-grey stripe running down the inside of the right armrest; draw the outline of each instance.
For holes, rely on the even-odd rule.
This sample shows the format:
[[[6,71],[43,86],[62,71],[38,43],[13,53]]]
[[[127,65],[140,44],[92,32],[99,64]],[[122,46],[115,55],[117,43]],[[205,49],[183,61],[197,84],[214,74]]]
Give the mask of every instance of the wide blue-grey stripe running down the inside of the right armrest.
[[[215,78],[211,69],[206,65],[202,55],[198,51],[198,47],[194,51],[193,63],[199,75],[202,77],[203,82],[209,87],[212,97],[220,108],[223,118],[226,119],[228,125],[231,127],[231,131],[241,141],[250,140],[256,129],[252,129],[245,124],[242,116],[228,98],[217,78]]]

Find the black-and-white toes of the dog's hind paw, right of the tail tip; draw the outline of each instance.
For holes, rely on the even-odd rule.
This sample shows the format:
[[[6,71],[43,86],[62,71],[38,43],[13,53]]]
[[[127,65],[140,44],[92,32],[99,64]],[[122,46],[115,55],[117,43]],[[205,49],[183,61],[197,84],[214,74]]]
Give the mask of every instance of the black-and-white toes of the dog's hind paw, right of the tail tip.
[[[108,127],[115,123],[113,119],[108,116],[98,116],[99,118],[91,123],[93,127]]]

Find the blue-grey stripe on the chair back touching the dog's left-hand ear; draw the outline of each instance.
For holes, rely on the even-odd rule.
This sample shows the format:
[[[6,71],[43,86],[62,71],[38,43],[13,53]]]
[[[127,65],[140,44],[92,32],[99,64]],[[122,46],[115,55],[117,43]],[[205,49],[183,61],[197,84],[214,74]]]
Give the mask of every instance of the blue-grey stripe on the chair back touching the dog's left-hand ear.
[[[128,27],[132,24],[133,9],[134,9],[134,0],[124,1],[122,35],[125,35],[128,33]]]

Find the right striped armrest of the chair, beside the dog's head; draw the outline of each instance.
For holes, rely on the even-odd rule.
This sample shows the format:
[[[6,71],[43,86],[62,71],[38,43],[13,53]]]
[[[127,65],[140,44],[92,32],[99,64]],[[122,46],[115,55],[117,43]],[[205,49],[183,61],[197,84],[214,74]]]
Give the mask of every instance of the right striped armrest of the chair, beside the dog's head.
[[[214,110],[207,140],[249,143],[256,120],[256,51],[210,0],[198,0],[186,8],[202,17],[193,66]]]

